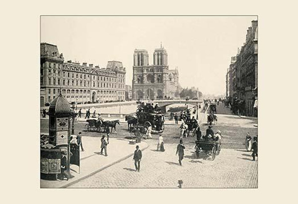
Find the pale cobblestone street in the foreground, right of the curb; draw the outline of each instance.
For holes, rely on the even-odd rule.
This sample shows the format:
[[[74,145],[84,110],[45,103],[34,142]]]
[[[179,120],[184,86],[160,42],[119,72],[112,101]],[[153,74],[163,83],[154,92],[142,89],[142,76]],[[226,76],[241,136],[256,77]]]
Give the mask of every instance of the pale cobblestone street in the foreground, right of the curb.
[[[243,145],[247,131],[252,136],[257,134],[253,126],[257,121],[221,114],[218,119],[214,130],[222,130],[224,139],[222,151],[214,161],[205,154],[195,159],[195,138],[188,137],[184,139],[185,157],[179,166],[175,155],[179,140],[177,127],[168,125],[163,133],[165,152],[156,151],[157,135],[146,140],[149,148],[143,152],[140,172],[135,171],[129,157],[69,188],[177,188],[180,179],[183,188],[257,188],[257,161],[252,161],[251,152],[246,152]],[[205,134],[206,125],[201,127]],[[122,128],[122,131],[127,130]],[[121,132],[117,137],[122,136]]]

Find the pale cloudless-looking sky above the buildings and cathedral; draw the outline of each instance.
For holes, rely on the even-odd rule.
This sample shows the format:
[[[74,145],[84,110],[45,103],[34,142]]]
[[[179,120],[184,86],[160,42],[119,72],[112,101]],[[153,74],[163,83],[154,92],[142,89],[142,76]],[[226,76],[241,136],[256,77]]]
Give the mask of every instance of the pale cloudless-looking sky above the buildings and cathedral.
[[[256,16],[42,16],[41,42],[58,46],[65,60],[105,67],[118,60],[132,84],[135,49],[153,51],[160,42],[168,53],[169,69],[179,70],[182,87],[203,94],[224,94],[230,57],[245,42]],[[212,82],[211,82],[212,80]]]

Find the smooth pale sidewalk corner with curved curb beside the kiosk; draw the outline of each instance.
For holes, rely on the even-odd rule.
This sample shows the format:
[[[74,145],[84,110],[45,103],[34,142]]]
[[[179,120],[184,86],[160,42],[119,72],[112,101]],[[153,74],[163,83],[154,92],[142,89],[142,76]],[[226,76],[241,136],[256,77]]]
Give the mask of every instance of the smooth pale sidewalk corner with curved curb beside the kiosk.
[[[132,156],[136,145],[130,145],[129,140],[110,138],[107,148],[108,156],[100,154],[100,137],[83,137],[84,152],[80,152],[80,173],[78,166],[71,165],[71,178],[68,181],[40,180],[41,188],[66,188],[85,179],[115,163]],[[141,150],[149,145],[145,142],[138,143]]]

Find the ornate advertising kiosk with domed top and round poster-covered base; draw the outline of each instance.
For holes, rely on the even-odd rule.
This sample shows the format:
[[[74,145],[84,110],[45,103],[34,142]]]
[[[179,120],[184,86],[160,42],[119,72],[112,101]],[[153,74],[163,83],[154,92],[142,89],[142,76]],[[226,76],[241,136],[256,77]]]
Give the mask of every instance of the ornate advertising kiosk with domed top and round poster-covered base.
[[[49,137],[40,148],[42,179],[69,179],[70,177],[70,119],[72,112],[68,101],[60,95],[49,107]]]

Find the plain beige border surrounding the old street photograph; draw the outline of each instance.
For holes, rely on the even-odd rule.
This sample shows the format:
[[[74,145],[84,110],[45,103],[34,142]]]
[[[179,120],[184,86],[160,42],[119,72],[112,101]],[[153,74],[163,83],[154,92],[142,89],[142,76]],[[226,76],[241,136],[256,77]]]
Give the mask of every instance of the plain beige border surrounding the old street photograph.
[[[284,100],[297,99],[295,91],[287,89],[297,81],[297,65],[290,63],[297,58],[294,2],[7,1],[1,12],[3,203],[294,203],[297,186],[291,183],[297,171],[288,165],[297,163],[295,148],[290,148],[297,144],[292,140],[297,118],[284,114]],[[39,22],[40,15],[50,14],[258,15],[258,189],[40,189]],[[286,147],[280,142],[283,137]]]

